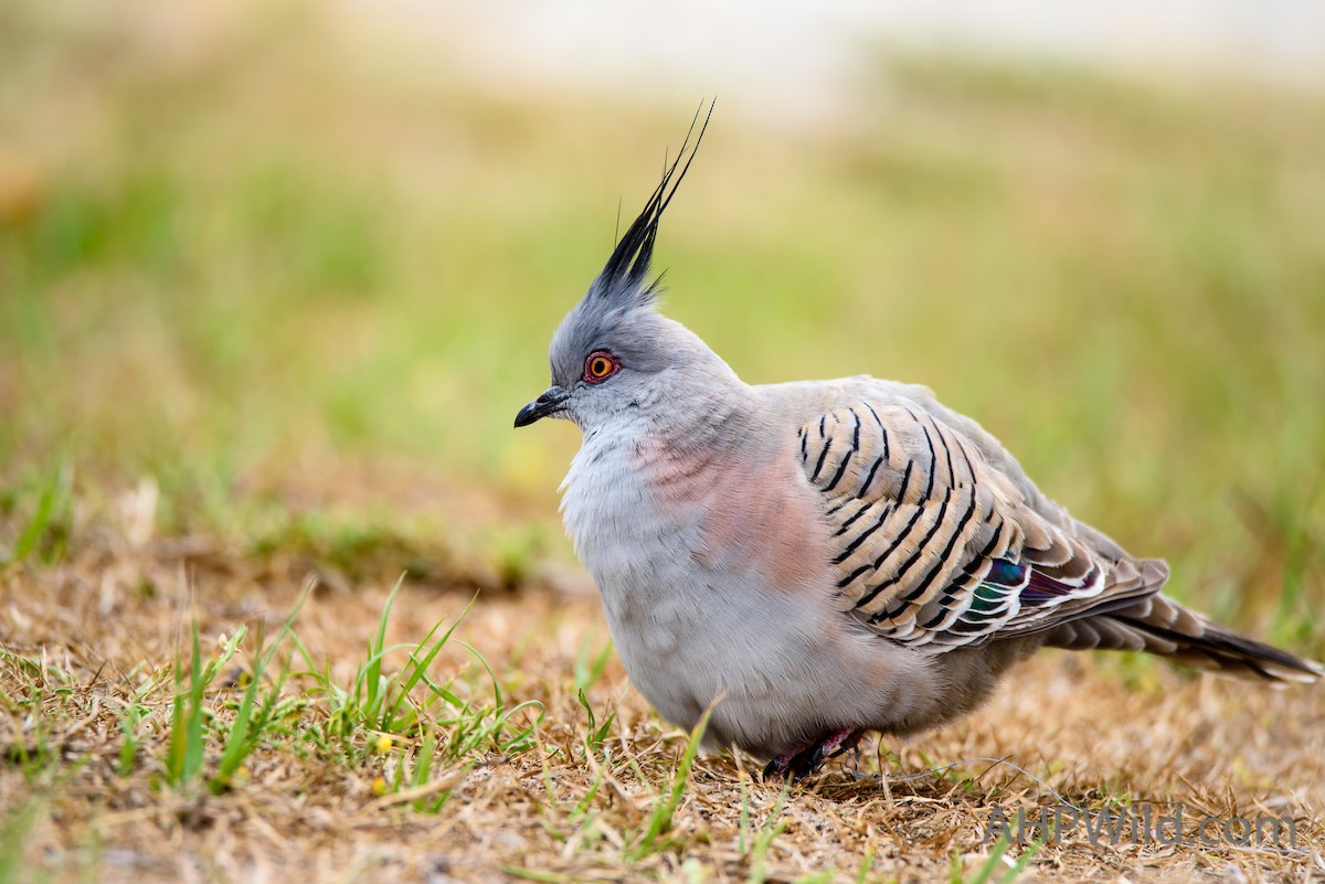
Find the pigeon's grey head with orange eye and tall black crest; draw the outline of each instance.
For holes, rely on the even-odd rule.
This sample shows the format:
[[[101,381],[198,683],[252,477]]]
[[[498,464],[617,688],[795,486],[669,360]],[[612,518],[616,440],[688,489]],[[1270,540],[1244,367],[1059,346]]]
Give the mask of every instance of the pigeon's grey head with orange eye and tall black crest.
[[[694,160],[708,123],[705,118],[686,156],[694,131],[690,124],[644,210],[553,335],[553,384],[519,410],[517,427],[558,417],[591,430],[628,409],[672,401],[692,385],[739,382],[698,336],[657,312],[661,278],[651,278],[659,222]]]

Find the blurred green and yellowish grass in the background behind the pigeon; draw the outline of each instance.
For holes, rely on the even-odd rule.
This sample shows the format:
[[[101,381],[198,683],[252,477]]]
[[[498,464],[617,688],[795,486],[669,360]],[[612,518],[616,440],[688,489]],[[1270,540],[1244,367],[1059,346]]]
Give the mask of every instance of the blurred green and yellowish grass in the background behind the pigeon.
[[[5,512],[60,451],[182,531],[358,461],[547,516],[578,434],[511,418],[693,109],[484,90],[299,5],[148,19],[0,9]],[[930,385],[1179,597],[1325,644],[1325,101],[897,56],[861,99],[719,105],[668,312],[753,382]]]

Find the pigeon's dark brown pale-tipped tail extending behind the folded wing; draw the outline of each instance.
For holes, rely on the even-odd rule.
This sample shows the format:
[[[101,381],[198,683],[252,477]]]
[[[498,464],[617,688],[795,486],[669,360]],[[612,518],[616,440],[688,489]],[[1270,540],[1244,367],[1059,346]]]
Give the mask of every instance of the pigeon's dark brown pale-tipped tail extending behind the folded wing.
[[[1146,651],[1187,666],[1268,682],[1325,679],[1320,663],[1239,635],[1155,593],[1106,614],[1060,623],[1045,644],[1073,651]]]

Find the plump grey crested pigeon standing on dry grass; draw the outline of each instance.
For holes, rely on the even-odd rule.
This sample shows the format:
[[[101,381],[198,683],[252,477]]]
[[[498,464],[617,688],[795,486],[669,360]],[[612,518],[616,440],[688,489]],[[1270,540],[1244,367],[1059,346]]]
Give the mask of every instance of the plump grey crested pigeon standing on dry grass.
[[[710,746],[798,777],[867,730],[970,711],[1044,646],[1325,675],[1161,594],[1162,560],[1072,519],[929,389],[751,386],[659,314],[653,243],[702,136],[556,330],[553,384],[515,417],[583,431],[563,520],[631,682],[665,719],[690,728],[712,708]]]

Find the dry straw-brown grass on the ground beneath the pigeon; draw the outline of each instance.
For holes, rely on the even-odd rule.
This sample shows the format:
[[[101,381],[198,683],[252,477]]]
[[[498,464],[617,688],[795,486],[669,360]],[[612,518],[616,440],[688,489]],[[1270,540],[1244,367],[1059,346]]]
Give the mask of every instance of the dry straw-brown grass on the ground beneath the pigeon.
[[[309,576],[329,565],[306,549],[257,554],[227,539],[135,536],[131,524],[81,512],[68,560],[0,574],[7,880],[978,880],[994,807],[1012,815],[1060,801],[1096,810],[1153,802],[1159,814],[1181,803],[1189,820],[1292,817],[1297,847],[1092,846],[1079,827],[1044,847],[1023,880],[1325,876],[1325,692],[1273,692],[1065,654],[1019,670],[977,715],[886,744],[896,758],[871,744],[845,766],[794,785],[780,811],[782,785],[765,782],[750,758],[701,757],[670,828],[644,848],[688,734],[653,716],[610,656],[587,695],[599,721],[612,711],[617,717],[586,752],[576,671],[607,630],[584,578],[538,576],[554,573],[550,566],[504,589],[482,569],[452,562],[407,582],[388,631],[390,641],[416,643],[437,621],[460,617],[473,586],[486,585],[457,635],[497,672],[507,705],[534,700],[546,709],[534,748],[500,754],[485,746],[408,789],[395,785],[395,773],[417,762],[424,733],[444,745],[445,729],[378,746],[360,728],[335,752],[273,734],[220,794],[203,782],[176,789],[163,762],[171,680],[143,699],[142,744],[122,770],[121,717],[131,695],[178,655],[187,659],[191,617],[205,659],[241,625],[265,623],[270,634]],[[391,584],[388,573],[358,582],[342,576],[303,603],[294,633],[334,676],[350,679],[363,662]],[[400,664],[403,656],[391,659]],[[461,672],[458,684],[482,695],[484,679],[469,678],[481,667],[454,644],[432,672]],[[224,680],[208,693],[217,727],[208,732],[207,772],[233,717],[227,700],[240,692]],[[284,692],[298,699],[305,688],[292,678]],[[307,700],[293,727],[325,712]],[[415,805],[448,791],[437,813]]]

